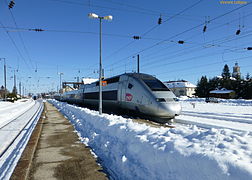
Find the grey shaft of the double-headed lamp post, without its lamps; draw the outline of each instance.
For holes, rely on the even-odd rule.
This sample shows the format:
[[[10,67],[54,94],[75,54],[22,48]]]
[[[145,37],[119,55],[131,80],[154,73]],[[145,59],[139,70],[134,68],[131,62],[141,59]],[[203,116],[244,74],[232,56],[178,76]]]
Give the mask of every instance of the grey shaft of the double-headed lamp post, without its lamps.
[[[102,114],[102,17],[100,19],[99,114]]]

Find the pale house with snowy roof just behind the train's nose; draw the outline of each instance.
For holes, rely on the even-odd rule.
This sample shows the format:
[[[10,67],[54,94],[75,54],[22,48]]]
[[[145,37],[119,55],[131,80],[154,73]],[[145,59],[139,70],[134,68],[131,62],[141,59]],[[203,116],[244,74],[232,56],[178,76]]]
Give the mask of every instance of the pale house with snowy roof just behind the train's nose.
[[[194,97],[196,86],[188,81],[165,81],[163,82],[177,97]]]

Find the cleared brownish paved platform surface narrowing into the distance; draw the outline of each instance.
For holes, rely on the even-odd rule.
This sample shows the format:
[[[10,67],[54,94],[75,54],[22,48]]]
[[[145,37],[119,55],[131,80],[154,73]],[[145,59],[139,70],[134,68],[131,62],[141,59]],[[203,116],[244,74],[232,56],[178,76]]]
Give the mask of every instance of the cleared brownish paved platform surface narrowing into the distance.
[[[42,116],[11,179],[108,179],[90,149],[78,140],[73,126],[53,105],[46,102]]]

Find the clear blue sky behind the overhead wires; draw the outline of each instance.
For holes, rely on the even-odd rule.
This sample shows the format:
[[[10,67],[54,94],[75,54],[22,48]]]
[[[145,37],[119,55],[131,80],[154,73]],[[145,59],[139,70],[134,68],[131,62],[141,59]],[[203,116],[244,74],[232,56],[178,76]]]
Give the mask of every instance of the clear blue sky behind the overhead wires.
[[[9,1],[3,0],[0,58],[8,66],[7,88],[12,89],[17,69],[17,82],[26,92],[56,90],[59,72],[63,81],[97,78],[99,21],[89,19],[90,12],[113,16],[102,23],[105,77],[135,71],[137,54],[140,71],[162,81],[196,84],[202,75],[220,75],[225,64],[232,71],[235,62],[243,76],[252,75],[252,51],[244,49],[252,46],[252,4],[246,2],[242,7],[218,0],[17,0],[9,10]],[[163,23],[158,25],[160,14]],[[28,31],[32,28],[45,31]],[[2,85],[2,61],[0,66]]]

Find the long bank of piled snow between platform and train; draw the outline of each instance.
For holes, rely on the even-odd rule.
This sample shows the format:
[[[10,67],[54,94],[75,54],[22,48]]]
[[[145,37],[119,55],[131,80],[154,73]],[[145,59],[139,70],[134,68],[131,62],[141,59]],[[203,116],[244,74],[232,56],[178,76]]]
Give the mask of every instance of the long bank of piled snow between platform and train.
[[[98,156],[110,179],[252,179],[252,133],[177,124],[150,127],[50,100]]]

